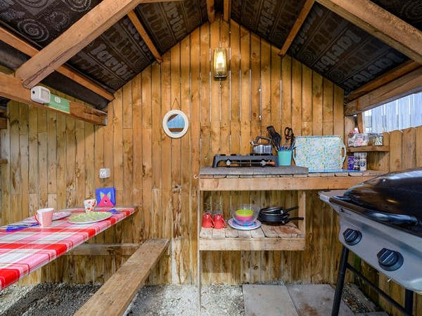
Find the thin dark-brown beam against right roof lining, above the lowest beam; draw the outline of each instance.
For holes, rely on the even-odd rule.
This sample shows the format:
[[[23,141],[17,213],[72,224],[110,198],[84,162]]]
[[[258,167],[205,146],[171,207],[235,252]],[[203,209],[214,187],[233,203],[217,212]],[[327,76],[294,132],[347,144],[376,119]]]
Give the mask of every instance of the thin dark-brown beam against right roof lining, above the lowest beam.
[[[350,102],[356,98],[362,97],[366,93],[369,93],[375,90],[376,88],[387,84],[390,81],[402,77],[404,74],[414,71],[419,67],[421,67],[421,65],[419,65],[417,62],[414,62],[413,60],[403,62],[402,65],[395,67],[395,69],[386,72],[382,76],[377,77],[376,79],[369,81],[367,84],[364,84],[364,86],[361,86],[360,88],[357,88],[356,90],[352,91],[351,93],[349,93],[346,100],[347,102]]]

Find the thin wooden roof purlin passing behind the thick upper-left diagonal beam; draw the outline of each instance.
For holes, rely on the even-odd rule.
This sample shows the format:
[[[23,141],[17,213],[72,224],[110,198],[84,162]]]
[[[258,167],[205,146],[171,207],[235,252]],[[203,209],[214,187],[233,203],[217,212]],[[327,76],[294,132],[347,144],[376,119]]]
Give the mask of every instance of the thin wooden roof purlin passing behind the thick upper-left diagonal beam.
[[[1,27],[1,26],[0,26],[0,38],[6,44],[16,48],[18,51],[30,57],[36,55],[39,52],[37,48],[34,48],[31,44],[28,44],[26,41],[23,41],[23,39],[16,37],[14,34],[12,34],[7,29],[4,29],[4,27]],[[109,101],[114,100],[114,96],[112,93],[108,92],[105,88],[98,86],[98,84],[96,84],[91,79],[85,77],[83,74],[80,74],[79,72],[75,72],[75,70],[72,70],[72,68],[68,67],[67,65],[58,67],[57,72],[59,72],[60,74],[63,74],[63,76],[68,77],[69,79],[72,79],[73,81],[77,82],[81,86],[88,88],[89,90],[98,94],[99,96],[106,98],[106,100],[109,100]]]

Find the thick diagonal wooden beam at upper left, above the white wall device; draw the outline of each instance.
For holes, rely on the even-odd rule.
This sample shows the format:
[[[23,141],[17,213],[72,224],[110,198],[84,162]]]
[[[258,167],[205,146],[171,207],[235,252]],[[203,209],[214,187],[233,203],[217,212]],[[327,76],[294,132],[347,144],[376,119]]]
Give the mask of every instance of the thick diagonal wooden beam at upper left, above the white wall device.
[[[27,60],[15,72],[25,88],[32,88],[67,62],[91,41],[127,15],[138,4],[168,0],[103,0],[57,39]]]

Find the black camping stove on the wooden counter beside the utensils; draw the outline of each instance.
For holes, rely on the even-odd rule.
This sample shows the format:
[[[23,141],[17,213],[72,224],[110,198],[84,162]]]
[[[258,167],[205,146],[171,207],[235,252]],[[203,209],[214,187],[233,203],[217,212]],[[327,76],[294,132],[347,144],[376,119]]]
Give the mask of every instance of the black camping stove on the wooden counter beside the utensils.
[[[276,159],[272,154],[216,154],[212,166],[276,166]]]

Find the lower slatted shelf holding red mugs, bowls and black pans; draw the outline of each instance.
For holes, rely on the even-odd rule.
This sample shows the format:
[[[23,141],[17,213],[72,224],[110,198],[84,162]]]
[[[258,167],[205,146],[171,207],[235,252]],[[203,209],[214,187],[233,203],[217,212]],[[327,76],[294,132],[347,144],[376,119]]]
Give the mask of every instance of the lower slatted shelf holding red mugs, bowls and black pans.
[[[256,230],[201,228],[200,251],[305,250],[305,233],[293,224],[262,224]]]

